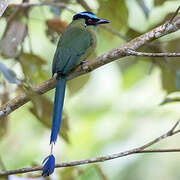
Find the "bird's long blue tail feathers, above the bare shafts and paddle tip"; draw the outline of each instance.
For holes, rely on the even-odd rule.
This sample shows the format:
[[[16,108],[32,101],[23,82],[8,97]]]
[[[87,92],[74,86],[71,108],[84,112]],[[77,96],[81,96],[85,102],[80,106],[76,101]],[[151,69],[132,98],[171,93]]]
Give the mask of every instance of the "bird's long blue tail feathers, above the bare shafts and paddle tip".
[[[53,121],[51,128],[50,144],[52,142],[54,142],[55,144],[61,126],[65,88],[66,88],[66,77],[58,75],[56,80],[56,93],[54,98]]]

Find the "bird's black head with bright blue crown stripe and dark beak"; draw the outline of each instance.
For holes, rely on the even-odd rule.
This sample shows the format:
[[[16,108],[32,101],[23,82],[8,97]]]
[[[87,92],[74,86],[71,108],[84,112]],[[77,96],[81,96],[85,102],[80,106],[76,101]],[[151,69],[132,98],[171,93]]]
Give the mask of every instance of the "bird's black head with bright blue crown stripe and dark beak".
[[[107,19],[100,19],[98,18],[95,14],[92,12],[80,12],[77,13],[73,16],[73,21],[79,20],[79,19],[84,19],[85,20],[85,26],[96,26],[99,24],[107,24],[111,23],[111,21]]]

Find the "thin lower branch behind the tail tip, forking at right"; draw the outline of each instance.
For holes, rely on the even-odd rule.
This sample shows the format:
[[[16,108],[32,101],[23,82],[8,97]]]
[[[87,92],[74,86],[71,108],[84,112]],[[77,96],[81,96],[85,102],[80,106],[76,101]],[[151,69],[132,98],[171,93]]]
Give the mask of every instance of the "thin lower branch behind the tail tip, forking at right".
[[[90,164],[90,163],[97,163],[97,162],[104,162],[112,159],[117,159],[120,157],[128,156],[131,154],[139,154],[139,153],[162,153],[162,152],[180,152],[180,148],[178,149],[151,149],[151,150],[145,150],[146,148],[162,141],[163,139],[166,139],[167,137],[173,136],[177,133],[180,132],[180,129],[176,130],[176,127],[179,125],[180,120],[178,120],[174,126],[164,133],[163,135],[155,138],[154,140],[140,146],[137,148],[133,148],[124,152],[116,153],[116,154],[111,154],[111,155],[106,155],[106,156],[101,156],[97,158],[91,158],[91,159],[85,159],[85,160],[80,160],[80,161],[71,161],[71,162],[64,162],[64,163],[59,163],[56,164],[56,168],[62,168],[62,167],[70,167],[70,166],[78,166],[78,165],[83,165],[83,164]],[[33,172],[33,171],[40,171],[42,170],[43,166],[35,166],[32,168],[22,168],[22,169],[15,169],[15,170],[9,170],[9,171],[0,171],[0,177],[2,176],[7,176],[11,174],[19,174],[19,173],[27,173],[27,172]]]

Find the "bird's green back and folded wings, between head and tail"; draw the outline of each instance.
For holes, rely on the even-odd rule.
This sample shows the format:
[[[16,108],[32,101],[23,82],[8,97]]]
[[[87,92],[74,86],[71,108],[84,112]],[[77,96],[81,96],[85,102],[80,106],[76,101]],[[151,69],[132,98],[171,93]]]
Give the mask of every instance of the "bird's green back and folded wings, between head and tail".
[[[61,36],[54,55],[52,73],[68,74],[75,67],[81,56],[91,46],[90,33],[80,27],[71,27]]]

